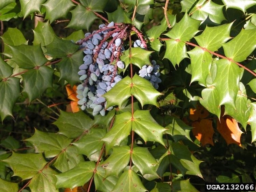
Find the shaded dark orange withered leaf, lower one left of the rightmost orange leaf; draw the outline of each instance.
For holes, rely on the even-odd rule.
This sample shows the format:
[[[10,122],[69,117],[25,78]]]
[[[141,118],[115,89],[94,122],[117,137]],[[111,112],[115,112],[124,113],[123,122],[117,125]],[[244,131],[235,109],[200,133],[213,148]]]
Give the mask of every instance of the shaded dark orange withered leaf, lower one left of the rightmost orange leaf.
[[[207,143],[213,145],[212,137],[214,130],[212,127],[212,120],[202,119],[201,121],[195,121],[192,123],[192,127],[193,134],[203,146]]]

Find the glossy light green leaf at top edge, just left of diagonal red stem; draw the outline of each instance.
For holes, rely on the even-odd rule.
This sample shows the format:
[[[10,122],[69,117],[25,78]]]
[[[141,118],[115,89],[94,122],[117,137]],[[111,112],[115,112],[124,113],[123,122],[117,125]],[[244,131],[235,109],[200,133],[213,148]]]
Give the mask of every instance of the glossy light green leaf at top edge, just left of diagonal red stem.
[[[66,17],[74,4],[70,0],[48,0],[43,6],[46,10],[45,19],[49,19],[52,23],[60,17]]]

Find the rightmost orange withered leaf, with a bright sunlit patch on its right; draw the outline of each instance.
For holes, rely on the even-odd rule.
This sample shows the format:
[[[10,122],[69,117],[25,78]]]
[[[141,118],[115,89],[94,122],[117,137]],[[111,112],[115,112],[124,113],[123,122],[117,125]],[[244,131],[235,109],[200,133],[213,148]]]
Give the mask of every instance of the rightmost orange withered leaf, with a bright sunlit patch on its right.
[[[241,146],[240,137],[243,133],[236,120],[229,116],[221,117],[221,122],[217,121],[217,130],[223,136],[227,144],[237,144]]]

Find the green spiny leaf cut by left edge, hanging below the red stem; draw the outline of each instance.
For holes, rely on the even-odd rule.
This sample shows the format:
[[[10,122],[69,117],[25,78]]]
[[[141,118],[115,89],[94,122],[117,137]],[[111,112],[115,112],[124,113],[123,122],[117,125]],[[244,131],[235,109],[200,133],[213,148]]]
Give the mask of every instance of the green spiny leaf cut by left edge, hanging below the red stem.
[[[2,121],[6,116],[12,116],[12,109],[20,93],[20,78],[10,77],[0,82],[0,116]]]

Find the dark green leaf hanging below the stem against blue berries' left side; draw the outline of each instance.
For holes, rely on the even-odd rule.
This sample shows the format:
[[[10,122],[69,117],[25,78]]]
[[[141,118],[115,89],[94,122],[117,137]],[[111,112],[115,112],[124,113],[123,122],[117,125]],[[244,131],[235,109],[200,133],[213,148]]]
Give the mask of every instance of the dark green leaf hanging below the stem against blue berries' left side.
[[[77,51],[72,54],[71,57],[63,58],[58,64],[58,69],[60,72],[60,80],[65,79],[71,87],[76,83],[80,83],[79,76],[77,72],[79,71],[79,66],[83,62],[84,54],[82,51]]]

